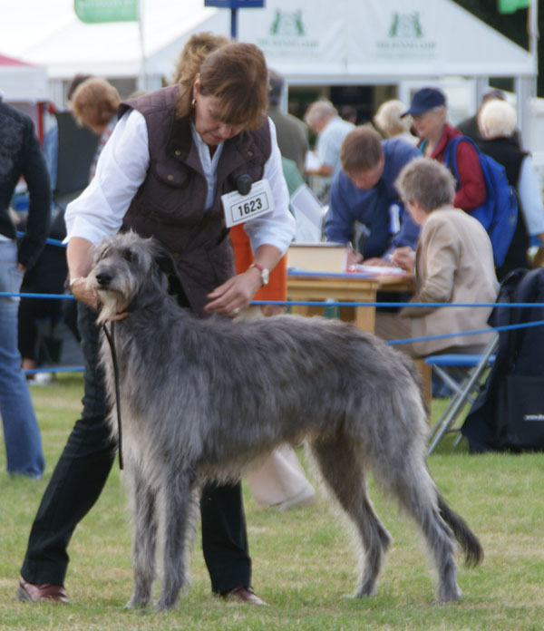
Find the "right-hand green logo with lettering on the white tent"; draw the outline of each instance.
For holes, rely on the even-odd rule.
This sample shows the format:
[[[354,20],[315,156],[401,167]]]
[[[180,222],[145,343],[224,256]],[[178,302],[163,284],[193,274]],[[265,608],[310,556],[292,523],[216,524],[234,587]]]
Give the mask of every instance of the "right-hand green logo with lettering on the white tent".
[[[376,41],[376,53],[384,59],[431,59],[436,54],[436,47],[436,40],[425,32],[419,11],[393,12],[386,36]]]

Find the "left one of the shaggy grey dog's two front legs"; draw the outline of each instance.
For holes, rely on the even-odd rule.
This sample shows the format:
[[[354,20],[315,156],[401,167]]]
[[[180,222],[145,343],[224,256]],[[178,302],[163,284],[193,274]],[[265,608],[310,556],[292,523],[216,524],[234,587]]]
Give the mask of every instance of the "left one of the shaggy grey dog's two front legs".
[[[157,514],[155,494],[139,471],[132,475],[132,566],[134,587],[127,607],[145,607],[151,600],[151,587],[155,579],[155,547],[157,541]]]

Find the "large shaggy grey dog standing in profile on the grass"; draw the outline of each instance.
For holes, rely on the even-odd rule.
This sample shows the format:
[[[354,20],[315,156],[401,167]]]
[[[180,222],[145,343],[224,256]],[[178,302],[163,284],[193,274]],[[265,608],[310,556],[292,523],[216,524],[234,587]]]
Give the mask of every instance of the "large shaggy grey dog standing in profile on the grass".
[[[170,263],[170,269],[169,269]],[[158,609],[187,584],[186,551],[199,486],[236,480],[279,444],[306,440],[364,549],[355,596],[374,592],[390,537],[366,494],[371,471],[423,531],[438,599],[457,600],[455,539],[465,561],[480,542],[442,499],[425,461],[427,411],[413,363],[370,335],[321,317],[199,319],[168,293],[170,257],[134,233],[96,249],[88,286],[98,323],[115,323],[125,473],[134,518],[130,607],[151,599],[162,543]],[[112,354],[102,344],[109,393]],[[112,431],[116,432],[115,413]]]

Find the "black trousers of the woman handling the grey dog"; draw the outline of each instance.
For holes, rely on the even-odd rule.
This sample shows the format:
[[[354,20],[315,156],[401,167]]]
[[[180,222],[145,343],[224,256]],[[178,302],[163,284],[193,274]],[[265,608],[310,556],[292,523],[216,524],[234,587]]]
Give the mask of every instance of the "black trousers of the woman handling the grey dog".
[[[78,310],[85,361],[83,413],[73,426],[34,519],[21,568],[23,578],[30,583],[63,585],[73,530],[98,500],[117,450],[105,422],[108,410],[98,363],[96,314],[81,304]],[[240,484],[206,487],[200,514],[212,590],[249,587],[251,560]]]

